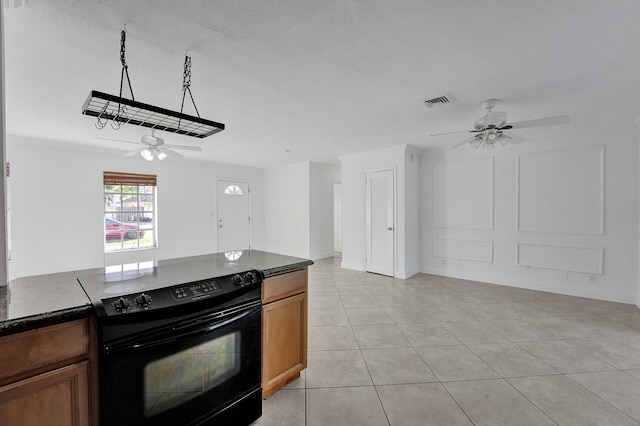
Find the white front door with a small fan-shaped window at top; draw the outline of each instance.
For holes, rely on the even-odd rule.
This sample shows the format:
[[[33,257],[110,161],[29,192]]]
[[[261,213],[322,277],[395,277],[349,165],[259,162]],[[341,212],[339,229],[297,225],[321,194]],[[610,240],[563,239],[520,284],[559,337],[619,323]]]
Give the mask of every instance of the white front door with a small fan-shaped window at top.
[[[249,184],[218,181],[218,251],[251,248]]]

